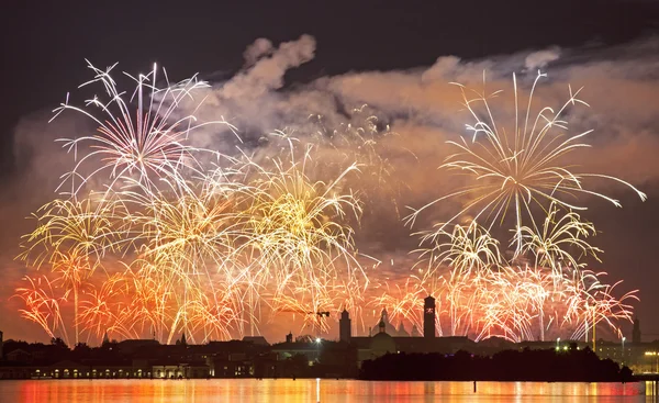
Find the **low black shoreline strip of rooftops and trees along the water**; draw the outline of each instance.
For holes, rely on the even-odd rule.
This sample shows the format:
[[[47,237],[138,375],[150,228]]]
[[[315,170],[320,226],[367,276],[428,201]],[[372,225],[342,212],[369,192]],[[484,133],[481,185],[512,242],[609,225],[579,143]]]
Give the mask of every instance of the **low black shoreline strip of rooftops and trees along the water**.
[[[481,350],[471,354],[404,352],[396,349],[361,361],[357,346],[303,337],[292,343],[210,342],[160,345],[153,339],[83,343],[69,349],[51,344],[7,340],[0,379],[189,379],[189,378],[361,378],[367,380],[456,381],[636,381],[632,370],[571,344],[560,349]],[[369,338],[378,342],[378,337]],[[424,338],[417,338],[424,340]],[[423,345],[422,345],[423,347]],[[394,354],[391,354],[395,351]],[[487,352],[483,352],[487,351]],[[359,366],[361,363],[361,366]],[[359,368],[360,367],[360,368]],[[474,388],[477,384],[474,383]]]

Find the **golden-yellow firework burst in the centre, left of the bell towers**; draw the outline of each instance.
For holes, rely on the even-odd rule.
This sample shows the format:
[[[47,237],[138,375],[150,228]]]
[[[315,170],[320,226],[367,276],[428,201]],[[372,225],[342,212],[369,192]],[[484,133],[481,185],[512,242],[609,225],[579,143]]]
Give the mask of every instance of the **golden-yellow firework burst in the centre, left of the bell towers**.
[[[242,249],[258,261],[258,281],[272,283],[275,311],[338,311],[338,295],[344,301],[359,298],[354,287],[359,278],[364,288],[368,286],[353,228],[344,224],[348,213],[358,217],[361,212],[356,197],[340,189],[356,165],[330,181],[314,181],[308,170],[316,148],[303,146],[299,153],[294,138],[275,136],[284,147],[269,164],[255,167],[253,198],[244,212],[249,237]],[[348,289],[353,295],[345,292]]]

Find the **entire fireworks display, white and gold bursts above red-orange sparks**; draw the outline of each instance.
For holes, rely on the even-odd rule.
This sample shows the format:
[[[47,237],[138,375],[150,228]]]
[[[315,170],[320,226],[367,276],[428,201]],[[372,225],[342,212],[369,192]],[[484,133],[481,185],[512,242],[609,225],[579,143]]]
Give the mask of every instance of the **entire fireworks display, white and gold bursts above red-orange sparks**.
[[[104,96],[85,108],[67,98],[55,112],[82,113],[98,131],[64,141],[76,161],[58,189],[64,199],[34,214],[36,228],[20,255],[32,269],[47,270],[16,289],[25,305],[20,313],[52,337],[62,334],[68,343],[72,324],[75,343],[105,333],[166,343],[183,333],[206,342],[259,334],[264,318],[281,315],[321,334],[344,309],[365,328],[379,307],[418,328],[428,294],[437,298],[440,335],[477,340],[588,337],[597,323],[618,332],[616,322],[630,318],[635,291],[616,299],[617,283],[603,284],[603,273],[587,270],[584,258],[601,253],[589,243],[595,230],[576,213],[583,206],[566,201],[591,194],[617,205],[585,188],[590,178],[630,187],[561,165],[587,146],[581,142],[590,133],[565,134],[561,115],[583,103],[579,91],[558,112],[545,108],[530,117],[539,75],[526,112],[505,132],[488,104],[496,92],[470,99],[461,87],[477,120],[468,125],[473,136],[453,142],[457,153],[442,168],[459,170],[473,184],[414,211],[409,223],[444,200],[467,203],[418,233],[412,267],[418,276],[390,284],[379,260],[360,254],[355,242],[360,217],[379,194],[398,214],[400,193],[386,157],[396,134],[366,108],[353,111],[359,123],[332,128],[316,117],[321,128],[311,136],[276,132],[263,138],[267,154],[246,148],[232,156],[191,142],[210,124],[237,133],[226,121],[175,117],[182,102],[203,103],[196,94],[208,85],[197,77],[171,85],[163,70],[160,88],[154,66],[146,76],[127,76],[136,87],[124,92],[110,76],[114,66],[89,67],[94,79],[83,86],[100,85]],[[517,99],[515,82],[516,105]],[[509,223],[507,214],[515,217],[512,256],[491,235],[495,223]],[[473,219],[456,224],[466,215]],[[63,313],[69,303],[72,321]]]

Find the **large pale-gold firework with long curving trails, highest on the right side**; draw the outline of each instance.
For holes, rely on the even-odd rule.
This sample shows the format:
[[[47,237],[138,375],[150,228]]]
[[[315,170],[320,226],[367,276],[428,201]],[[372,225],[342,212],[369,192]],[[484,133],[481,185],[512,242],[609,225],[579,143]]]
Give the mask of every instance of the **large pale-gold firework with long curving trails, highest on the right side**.
[[[588,179],[602,178],[619,182],[633,189],[641,200],[646,194],[622,179],[599,175],[582,173],[570,170],[562,164],[566,156],[574,157],[574,153],[589,147],[584,138],[593,131],[570,135],[568,122],[563,121],[568,107],[585,102],[578,98],[579,92],[570,93],[568,101],[558,109],[545,107],[533,116],[533,93],[538,81],[545,77],[538,72],[525,110],[518,108],[520,96],[517,81],[513,76],[515,98],[515,124],[505,130],[498,126],[489,101],[501,91],[479,93],[470,97],[463,86],[458,85],[462,92],[463,104],[473,116],[474,123],[467,124],[472,133],[471,138],[460,137],[449,141],[456,153],[447,157],[440,169],[457,170],[469,179],[469,184],[453,193],[442,197],[407,216],[407,223],[414,224],[418,215],[429,206],[451,198],[467,200],[460,211],[439,224],[436,230],[440,234],[446,225],[460,216],[469,214],[473,221],[487,222],[491,227],[496,222],[504,222],[506,214],[514,215],[513,244],[515,253],[520,254],[523,246],[522,228],[527,226],[534,233],[538,232],[534,210],[539,208],[547,211],[550,203],[562,209],[585,210],[582,205],[567,201],[577,200],[578,195],[588,194],[610,201],[616,206],[619,202],[604,193],[591,190],[584,186]],[[483,80],[484,81],[484,80]],[[484,119],[479,116],[484,115]],[[525,224],[527,223],[528,224]]]

